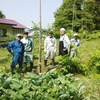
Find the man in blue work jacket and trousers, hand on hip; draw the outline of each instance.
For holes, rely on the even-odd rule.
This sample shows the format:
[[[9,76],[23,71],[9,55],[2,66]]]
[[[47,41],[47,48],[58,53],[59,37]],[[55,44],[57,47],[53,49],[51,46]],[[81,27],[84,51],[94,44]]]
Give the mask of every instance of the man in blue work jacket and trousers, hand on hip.
[[[23,64],[23,53],[24,53],[24,44],[20,41],[21,35],[17,34],[15,37],[15,41],[12,41],[8,46],[7,50],[10,52],[12,57],[12,64],[11,64],[11,72],[13,73],[14,68],[17,64],[19,64],[20,72],[22,71],[22,64]]]

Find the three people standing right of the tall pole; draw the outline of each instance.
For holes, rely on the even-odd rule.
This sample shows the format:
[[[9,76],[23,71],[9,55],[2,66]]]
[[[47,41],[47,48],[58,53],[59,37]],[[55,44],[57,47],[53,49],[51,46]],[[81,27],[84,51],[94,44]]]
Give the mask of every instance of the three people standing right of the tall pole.
[[[64,28],[60,29],[60,41],[59,41],[59,55],[64,56],[70,54],[70,58],[74,58],[77,55],[76,48],[80,48],[80,41],[78,40],[78,34],[74,34],[74,38],[69,40]],[[44,41],[44,51],[46,52],[44,59],[44,67],[47,66],[47,60],[49,56],[52,60],[52,66],[54,66],[54,56],[56,53],[56,38],[53,37],[53,32],[49,32],[49,36]]]

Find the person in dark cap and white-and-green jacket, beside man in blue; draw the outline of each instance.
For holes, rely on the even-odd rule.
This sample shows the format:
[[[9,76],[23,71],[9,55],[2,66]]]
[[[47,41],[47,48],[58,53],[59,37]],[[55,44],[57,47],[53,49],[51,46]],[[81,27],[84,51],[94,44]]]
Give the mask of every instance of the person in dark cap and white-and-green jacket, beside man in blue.
[[[24,32],[24,37],[21,39],[21,42],[24,44],[24,66],[25,70],[27,71],[27,62],[30,63],[30,71],[33,68],[33,56],[32,56],[32,49],[33,49],[33,41],[32,39],[28,38],[28,32]]]

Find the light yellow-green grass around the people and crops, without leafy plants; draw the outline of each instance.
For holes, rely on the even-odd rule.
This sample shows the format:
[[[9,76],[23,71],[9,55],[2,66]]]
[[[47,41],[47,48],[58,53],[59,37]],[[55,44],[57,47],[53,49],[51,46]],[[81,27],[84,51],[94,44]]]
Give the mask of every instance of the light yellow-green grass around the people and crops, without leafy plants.
[[[34,45],[35,47],[33,50],[33,55],[34,55],[34,58],[38,58],[38,47],[37,47],[38,41],[37,40],[34,40]],[[82,63],[86,63],[88,65],[92,54],[95,53],[96,50],[100,50],[100,40],[99,39],[91,40],[91,41],[87,41],[84,39],[81,41],[81,48],[78,54],[78,59]],[[11,63],[11,58],[12,57],[7,52],[6,48],[0,49],[0,73],[10,72],[9,66]],[[43,60],[44,60],[44,51],[42,50],[42,63],[41,63],[42,66],[43,66]],[[55,61],[59,62],[58,51],[56,53]],[[50,64],[50,61],[48,61],[48,64]],[[37,68],[38,59],[34,59],[34,66],[35,68]],[[55,67],[59,67],[59,65],[56,65]],[[16,69],[18,69],[18,67]],[[42,72],[48,71],[48,69],[50,69],[50,66],[47,68],[42,68]],[[90,94],[90,95],[93,94],[100,98],[100,74],[89,72],[87,76],[83,76],[80,74],[80,75],[75,75],[74,77],[80,78],[80,82],[83,82],[83,85],[86,86],[85,91],[87,92],[87,94]],[[94,100],[94,99],[91,99],[91,100]]]

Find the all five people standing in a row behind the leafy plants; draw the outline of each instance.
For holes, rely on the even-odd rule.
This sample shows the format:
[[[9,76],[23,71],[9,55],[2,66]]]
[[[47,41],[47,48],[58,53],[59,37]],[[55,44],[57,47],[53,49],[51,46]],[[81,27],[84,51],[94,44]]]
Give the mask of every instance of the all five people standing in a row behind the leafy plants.
[[[60,29],[60,42],[59,42],[59,55],[64,56],[70,53],[70,58],[76,57],[76,51],[74,47],[70,45],[74,45],[76,47],[80,47],[80,41],[77,39],[78,34],[74,34],[74,38],[69,40],[68,36],[65,34],[65,29]],[[54,57],[56,53],[56,38],[53,36],[53,32],[48,33],[48,37],[44,40],[44,51],[45,51],[45,59],[44,59],[44,67],[47,66],[47,60],[49,56],[52,60],[52,66],[54,66]],[[15,37],[15,41],[12,41],[8,46],[7,50],[10,52],[12,57],[11,64],[11,72],[13,73],[14,68],[17,64],[19,64],[19,71],[22,72],[22,65],[24,65],[25,70],[27,71],[27,62],[30,63],[30,71],[33,68],[33,56],[32,49],[34,47],[33,40],[28,37],[28,32],[24,33],[24,37],[20,34],[17,34]]]

